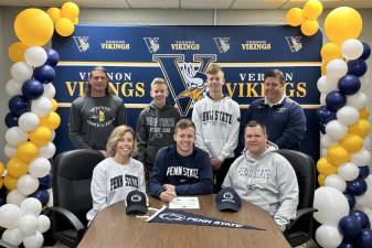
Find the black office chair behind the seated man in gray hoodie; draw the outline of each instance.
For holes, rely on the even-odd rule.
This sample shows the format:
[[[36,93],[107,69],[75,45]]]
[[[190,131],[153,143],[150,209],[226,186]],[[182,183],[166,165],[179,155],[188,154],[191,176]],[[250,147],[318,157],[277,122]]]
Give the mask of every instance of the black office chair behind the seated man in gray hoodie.
[[[298,206],[296,218],[290,222],[284,231],[288,242],[295,247],[302,245],[312,237],[313,192],[316,190],[316,165],[311,157],[294,150],[280,149],[277,151],[293,165],[298,181]]]

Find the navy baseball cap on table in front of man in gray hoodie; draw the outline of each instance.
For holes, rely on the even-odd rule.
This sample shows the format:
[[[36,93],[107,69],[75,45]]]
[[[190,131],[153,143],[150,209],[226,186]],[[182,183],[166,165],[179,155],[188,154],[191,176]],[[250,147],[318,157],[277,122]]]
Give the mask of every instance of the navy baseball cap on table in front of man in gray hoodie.
[[[215,196],[215,204],[219,211],[237,212],[242,201],[234,188],[223,187]]]

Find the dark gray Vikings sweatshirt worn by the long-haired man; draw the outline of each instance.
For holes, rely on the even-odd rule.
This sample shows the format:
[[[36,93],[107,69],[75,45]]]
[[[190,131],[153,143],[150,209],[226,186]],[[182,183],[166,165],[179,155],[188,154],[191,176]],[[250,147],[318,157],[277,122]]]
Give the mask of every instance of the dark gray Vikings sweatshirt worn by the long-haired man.
[[[76,149],[106,150],[117,126],[125,123],[123,100],[113,95],[78,97],[71,106],[68,134]]]

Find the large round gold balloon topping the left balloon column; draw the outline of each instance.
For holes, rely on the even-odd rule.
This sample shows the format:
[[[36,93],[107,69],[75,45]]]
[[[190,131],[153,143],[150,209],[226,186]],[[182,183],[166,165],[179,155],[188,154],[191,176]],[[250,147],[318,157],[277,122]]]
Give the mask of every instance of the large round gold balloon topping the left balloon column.
[[[51,40],[54,25],[47,13],[31,8],[17,15],[14,32],[23,44],[43,46]]]

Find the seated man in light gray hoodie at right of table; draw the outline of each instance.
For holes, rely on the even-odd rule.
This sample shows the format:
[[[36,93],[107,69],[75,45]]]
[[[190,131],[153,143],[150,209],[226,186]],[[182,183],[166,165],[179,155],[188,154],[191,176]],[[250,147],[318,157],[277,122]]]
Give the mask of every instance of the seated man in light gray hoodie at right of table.
[[[233,187],[242,200],[251,202],[273,217],[284,230],[296,217],[298,184],[295,170],[267,140],[265,126],[249,121],[244,133],[245,150],[231,165],[222,184]]]

